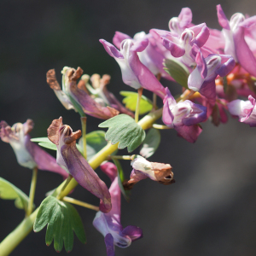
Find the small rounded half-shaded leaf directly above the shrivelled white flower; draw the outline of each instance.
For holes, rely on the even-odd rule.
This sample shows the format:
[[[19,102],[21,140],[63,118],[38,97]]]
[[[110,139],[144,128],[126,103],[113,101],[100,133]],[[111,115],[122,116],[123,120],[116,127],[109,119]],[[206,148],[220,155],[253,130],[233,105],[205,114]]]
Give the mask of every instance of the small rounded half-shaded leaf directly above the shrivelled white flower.
[[[160,131],[151,128],[148,131],[146,138],[143,142],[143,148],[141,149],[140,154],[143,155],[143,157],[145,158],[148,158],[151,155],[153,155],[160,144],[160,140]]]

